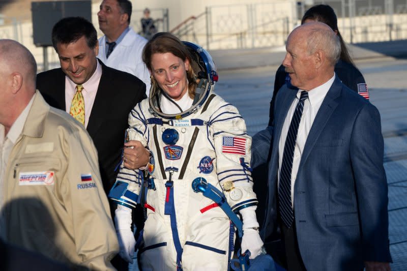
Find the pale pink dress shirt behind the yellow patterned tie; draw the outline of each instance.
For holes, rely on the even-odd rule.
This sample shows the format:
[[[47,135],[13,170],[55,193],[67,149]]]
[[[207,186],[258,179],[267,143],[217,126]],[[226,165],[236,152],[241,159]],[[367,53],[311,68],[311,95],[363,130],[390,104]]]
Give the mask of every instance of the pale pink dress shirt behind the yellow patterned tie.
[[[95,102],[96,93],[98,92],[100,77],[102,76],[102,66],[97,61],[95,72],[88,81],[82,84],[82,95],[85,101],[85,128],[88,127],[89,116],[92,112],[93,103]],[[65,76],[65,111],[69,114],[71,110],[72,99],[76,92],[76,84]]]

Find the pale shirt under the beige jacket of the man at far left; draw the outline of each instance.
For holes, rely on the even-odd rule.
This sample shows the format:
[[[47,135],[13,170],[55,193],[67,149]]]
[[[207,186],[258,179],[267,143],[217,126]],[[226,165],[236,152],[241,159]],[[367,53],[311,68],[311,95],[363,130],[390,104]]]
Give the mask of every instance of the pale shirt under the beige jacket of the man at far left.
[[[0,124],[0,151],[2,152],[0,155],[0,208],[3,208],[4,204],[4,176],[6,174],[5,170],[7,168],[7,163],[9,162],[9,156],[11,150],[13,149],[14,145],[17,142],[17,139],[20,137],[22,133],[22,129],[24,128],[25,121],[28,116],[28,112],[30,112],[31,106],[33,105],[33,101],[36,94],[31,98],[30,102],[21,112],[21,114],[17,117],[16,121],[10,127],[9,132],[5,135],[6,130],[5,127]]]

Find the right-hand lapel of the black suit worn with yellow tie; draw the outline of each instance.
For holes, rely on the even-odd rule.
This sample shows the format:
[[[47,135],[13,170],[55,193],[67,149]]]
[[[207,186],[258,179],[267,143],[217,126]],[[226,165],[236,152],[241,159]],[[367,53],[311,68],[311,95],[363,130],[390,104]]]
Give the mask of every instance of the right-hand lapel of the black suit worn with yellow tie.
[[[86,127],[86,130],[88,130],[92,138],[94,138],[94,135],[96,135],[99,127],[102,125],[105,114],[109,111],[109,104],[111,102],[111,89],[109,89],[111,81],[110,72],[101,61],[99,61],[99,64],[102,66],[102,75],[100,77],[95,102],[92,106],[91,115],[89,116],[88,127]]]

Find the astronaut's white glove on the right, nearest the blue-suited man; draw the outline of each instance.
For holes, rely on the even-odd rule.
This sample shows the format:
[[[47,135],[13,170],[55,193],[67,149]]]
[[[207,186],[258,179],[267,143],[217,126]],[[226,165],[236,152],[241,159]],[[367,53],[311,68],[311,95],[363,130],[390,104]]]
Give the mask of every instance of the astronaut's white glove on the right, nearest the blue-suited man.
[[[263,241],[258,234],[258,222],[256,218],[256,206],[250,206],[240,210],[243,219],[243,236],[241,250],[244,253],[250,251],[249,259],[254,259],[260,255],[263,248]]]

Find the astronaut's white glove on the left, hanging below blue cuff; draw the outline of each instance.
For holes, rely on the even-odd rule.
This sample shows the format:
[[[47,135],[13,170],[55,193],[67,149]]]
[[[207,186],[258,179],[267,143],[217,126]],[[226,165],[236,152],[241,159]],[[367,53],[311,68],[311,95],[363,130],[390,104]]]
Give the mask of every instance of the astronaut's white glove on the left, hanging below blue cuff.
[[[134,247],[136,240],[131,230],[131,209],[123,205],[118,205],[114,211],[114,224],[119,239],[119,255],[124,260],[133,263]]]

